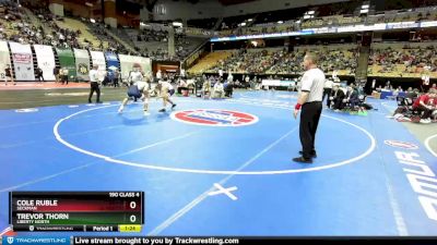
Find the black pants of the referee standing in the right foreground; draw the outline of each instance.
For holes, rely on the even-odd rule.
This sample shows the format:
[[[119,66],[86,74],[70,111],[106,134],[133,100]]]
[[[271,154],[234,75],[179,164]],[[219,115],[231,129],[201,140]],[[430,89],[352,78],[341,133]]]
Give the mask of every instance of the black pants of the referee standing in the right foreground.
[[[302,106],[299,137],[303,157],[305,159],[310,159],[316,152],[315,139],[321,110],[321,101],[307,102]]]

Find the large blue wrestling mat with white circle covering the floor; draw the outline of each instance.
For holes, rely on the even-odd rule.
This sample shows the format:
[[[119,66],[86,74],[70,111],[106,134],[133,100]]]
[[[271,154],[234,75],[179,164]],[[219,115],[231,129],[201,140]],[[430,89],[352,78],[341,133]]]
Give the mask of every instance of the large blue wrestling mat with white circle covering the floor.
[[[126,189],[143,235],[437,235],[436,158],[380,100],[323,110],[312,164],[292,161],[296,94],[174,100],[0,111],[0,231],[11,191]]]

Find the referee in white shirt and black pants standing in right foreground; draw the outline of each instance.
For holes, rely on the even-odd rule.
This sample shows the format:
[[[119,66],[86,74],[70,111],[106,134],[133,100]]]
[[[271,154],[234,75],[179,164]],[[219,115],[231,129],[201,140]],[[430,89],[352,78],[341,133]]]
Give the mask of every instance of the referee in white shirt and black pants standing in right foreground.
[[[312,163],[316,158],[316,131],[322,110],[324,74],[317,68],[315,53],[307,53],[304,58],[305,73],[302,77],[300,94],[294,110],[294,118],[300,112],[299,137],[302,157],[293,158],[295,162]]]

